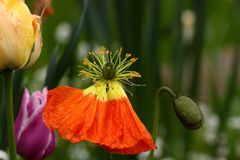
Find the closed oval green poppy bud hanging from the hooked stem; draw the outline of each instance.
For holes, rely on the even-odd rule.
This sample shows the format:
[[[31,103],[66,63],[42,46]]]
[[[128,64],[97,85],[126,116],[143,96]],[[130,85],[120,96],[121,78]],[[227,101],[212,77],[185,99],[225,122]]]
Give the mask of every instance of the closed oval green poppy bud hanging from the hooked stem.
[[[187,96],[179,96],[173,101],[174,111],[184,127],[198,129],[203,124],[203,115],[198,105]]]

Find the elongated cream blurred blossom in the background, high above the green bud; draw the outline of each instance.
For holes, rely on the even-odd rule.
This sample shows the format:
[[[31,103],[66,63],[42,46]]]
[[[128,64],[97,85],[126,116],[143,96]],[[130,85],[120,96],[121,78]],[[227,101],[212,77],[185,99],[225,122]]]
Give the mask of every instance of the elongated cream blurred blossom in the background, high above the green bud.
[[[194,29],[195,29],[195,21],[196,16],[195,13],[191,10],[183,11],[181,15],[182,20],[182,29],[183,29],[183,42],[188,44],[192,41],[194,36]]]

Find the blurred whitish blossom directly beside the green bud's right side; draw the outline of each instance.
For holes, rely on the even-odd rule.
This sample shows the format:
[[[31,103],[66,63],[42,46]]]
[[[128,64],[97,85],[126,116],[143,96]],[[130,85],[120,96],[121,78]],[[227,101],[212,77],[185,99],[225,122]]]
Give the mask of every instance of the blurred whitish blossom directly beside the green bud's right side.
[[[208,144],[214,144],[217,140],[217,129],[219,126],[219,117],[214,114],[206,104],[200,104],[203,115],[204,115],[204,132],[203,140]]]

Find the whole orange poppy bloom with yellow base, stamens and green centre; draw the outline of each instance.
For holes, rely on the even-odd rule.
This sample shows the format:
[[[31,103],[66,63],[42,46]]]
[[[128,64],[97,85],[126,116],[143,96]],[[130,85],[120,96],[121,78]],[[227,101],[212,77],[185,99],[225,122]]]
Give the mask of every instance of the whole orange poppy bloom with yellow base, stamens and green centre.
[[[121,60],[104,48],[91,52],[80,74],[94,84],[85,90],[60,86],[48,92],[43,111],[46,125],[62,138],[77,143],[88,140],[118,154],[137,154],[155,149],[151,135],[134,112],[121,82],[140,77],[127,69],[137,60],[130,54]]]

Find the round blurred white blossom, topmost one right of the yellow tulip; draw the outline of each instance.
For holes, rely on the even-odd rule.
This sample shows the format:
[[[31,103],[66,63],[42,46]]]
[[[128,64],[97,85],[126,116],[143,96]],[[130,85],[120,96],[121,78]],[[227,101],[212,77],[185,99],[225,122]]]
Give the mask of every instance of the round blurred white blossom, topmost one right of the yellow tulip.
[[[71,35],[72,26],[68,22],[60,23],[55,30],[55,39],[60,44],[64,44],[69,40]]]

